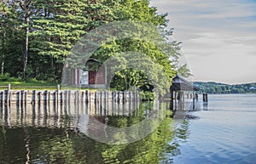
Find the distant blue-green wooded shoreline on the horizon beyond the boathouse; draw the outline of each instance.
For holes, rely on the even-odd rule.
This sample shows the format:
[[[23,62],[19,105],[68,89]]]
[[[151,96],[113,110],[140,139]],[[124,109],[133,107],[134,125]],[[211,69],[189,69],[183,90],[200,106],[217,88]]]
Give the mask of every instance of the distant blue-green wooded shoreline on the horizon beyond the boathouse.
[[[217,82],[193,82],[204,93],[256,93],[256,82],[229,85]]]

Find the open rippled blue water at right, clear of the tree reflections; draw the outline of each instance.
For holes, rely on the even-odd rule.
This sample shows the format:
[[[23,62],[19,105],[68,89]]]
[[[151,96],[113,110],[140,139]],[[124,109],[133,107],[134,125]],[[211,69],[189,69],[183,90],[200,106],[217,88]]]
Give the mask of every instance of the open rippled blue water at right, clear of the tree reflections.
[[[256,94],[209,95],[201,109],[190,113],[174,163],[256,163]]]

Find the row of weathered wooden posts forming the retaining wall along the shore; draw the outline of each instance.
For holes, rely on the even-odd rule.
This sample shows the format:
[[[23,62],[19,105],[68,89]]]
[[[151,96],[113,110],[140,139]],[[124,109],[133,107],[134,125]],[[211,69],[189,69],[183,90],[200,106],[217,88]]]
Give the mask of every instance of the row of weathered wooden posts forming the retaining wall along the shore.
[[[17,104],[34,104],[36,102],[58,102],[64,101],[107,101],[113,100],[116,102],[126,101],[139,101],[138,91],[131,92],[118,92],[118,91],[96,91],[90,90],[60,90],[58,85],[55,91],[37,91],[37,90],[11,90],[10,85],[7,90],[0,91],[0,102],[4,104],[17,103]]]

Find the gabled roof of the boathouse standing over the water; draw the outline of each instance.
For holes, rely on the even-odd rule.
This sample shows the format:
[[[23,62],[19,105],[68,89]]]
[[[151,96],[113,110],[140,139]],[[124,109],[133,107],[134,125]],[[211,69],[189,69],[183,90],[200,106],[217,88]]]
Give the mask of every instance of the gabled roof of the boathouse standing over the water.
[[[172,91],[200,91],[192,82],[187,81],[182,76],[175,76],[172,79]]]

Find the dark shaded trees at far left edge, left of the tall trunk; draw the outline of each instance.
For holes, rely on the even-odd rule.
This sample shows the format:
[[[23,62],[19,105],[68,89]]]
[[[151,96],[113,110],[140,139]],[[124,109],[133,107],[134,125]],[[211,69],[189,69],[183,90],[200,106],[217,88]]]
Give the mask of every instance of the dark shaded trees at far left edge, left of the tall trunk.
[[[21,46],[23,48],[24,42],[19,5],[15,1],[2,1],[0,4],[1,72],[19,76],[22,66],[17,64],[23,61],[20,54],[23,54]]]

